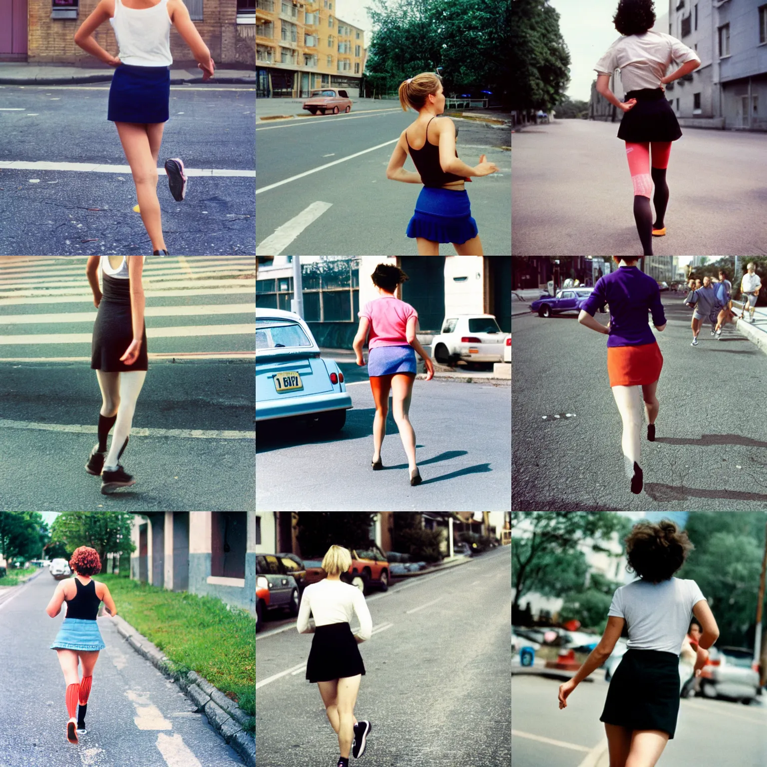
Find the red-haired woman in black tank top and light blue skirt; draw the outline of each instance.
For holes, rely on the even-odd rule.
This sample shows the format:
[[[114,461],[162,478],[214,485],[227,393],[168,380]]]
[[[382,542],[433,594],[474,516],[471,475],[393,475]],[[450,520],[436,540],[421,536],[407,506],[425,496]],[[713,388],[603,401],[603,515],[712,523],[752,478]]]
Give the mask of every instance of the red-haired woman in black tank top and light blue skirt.
[[[91,578],[92,574],[101,571],[101,561],[96,549],[87,546],[76,548],[69,566],[74,572],[74,578],[59,582],[45,612],[54,618],[61,612],[61,604],[67,603],[67,614],[54,643],[51,644],[51,650],[58,653],[58,662],[64,672],[64,682],[67,683],[67,740],[77,743],[77,736],[87,732],[85,713],[93,683],[94,666],[99,651],[106,647],[96,624],[98,607],[101,601],[104,601],[107,613],[112,617],[117,615],[117,607],[114,606],[107,584]],[[78,662],[83,664],[82,679],[77,674]],[[75,719],[74,707],[77,703],[80,707]]]

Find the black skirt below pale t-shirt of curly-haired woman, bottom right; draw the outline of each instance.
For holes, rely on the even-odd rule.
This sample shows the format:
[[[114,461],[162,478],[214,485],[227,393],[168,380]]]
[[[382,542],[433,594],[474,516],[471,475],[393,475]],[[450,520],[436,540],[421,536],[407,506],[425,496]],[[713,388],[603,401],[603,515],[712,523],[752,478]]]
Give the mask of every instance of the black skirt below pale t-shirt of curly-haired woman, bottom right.
[[[679,656],[627,650],[610,680],[600,722],[660,729],[673,739],[679,715]]]

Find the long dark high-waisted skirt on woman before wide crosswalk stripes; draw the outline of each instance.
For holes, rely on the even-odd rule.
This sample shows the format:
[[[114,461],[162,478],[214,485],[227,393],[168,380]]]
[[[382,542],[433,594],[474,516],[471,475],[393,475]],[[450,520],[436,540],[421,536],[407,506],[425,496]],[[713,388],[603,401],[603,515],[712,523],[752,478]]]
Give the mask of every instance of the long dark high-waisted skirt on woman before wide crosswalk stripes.
[[[138,359],[127,365],[120,361],[133,341],[133,312],[130,309],[130,280],[103,275],[102,297],[91,341],[91,368],[104,373],[148,370],[146,324]]]

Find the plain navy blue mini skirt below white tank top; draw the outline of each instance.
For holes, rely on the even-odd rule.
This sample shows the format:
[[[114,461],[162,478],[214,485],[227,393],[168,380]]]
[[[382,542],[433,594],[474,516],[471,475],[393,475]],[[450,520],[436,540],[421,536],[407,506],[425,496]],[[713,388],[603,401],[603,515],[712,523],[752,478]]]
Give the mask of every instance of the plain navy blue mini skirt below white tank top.
[[[107,120],[165,123],[170,103],[170,69],[120,64],[112,76]]]

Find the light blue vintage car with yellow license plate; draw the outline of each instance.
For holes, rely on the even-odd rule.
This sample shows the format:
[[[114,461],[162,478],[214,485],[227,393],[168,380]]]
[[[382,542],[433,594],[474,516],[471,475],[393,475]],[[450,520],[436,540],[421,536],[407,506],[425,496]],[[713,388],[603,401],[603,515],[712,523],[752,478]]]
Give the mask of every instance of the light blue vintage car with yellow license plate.
[[[300,417],[341,430],[352,407],[344,374],[298,314],[255,310],[255,420]]]

